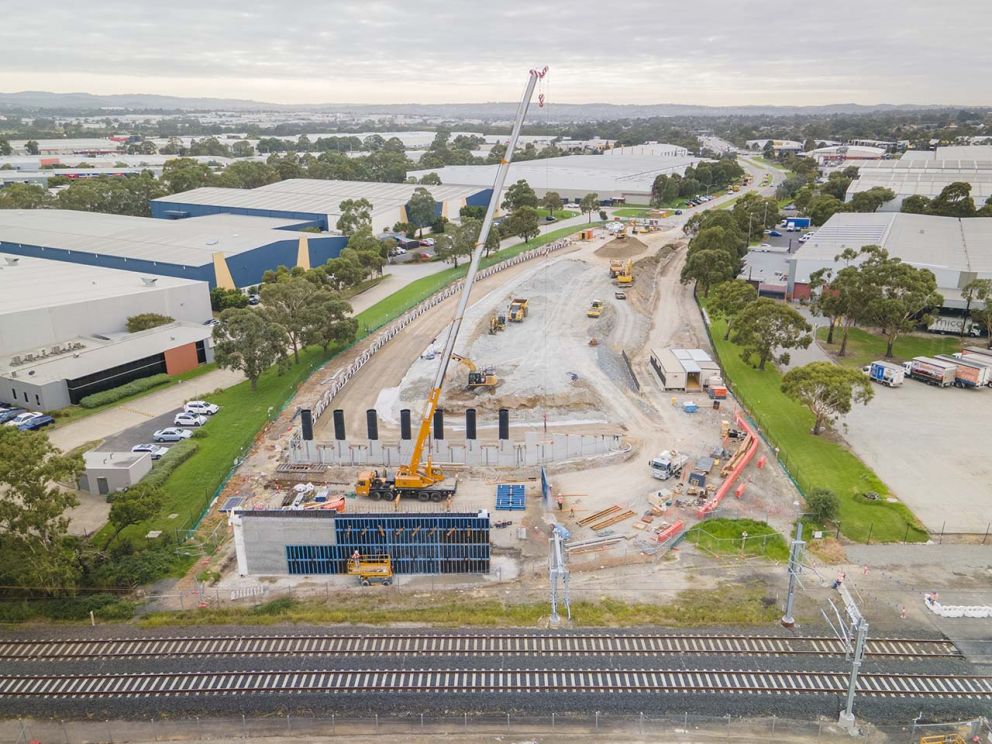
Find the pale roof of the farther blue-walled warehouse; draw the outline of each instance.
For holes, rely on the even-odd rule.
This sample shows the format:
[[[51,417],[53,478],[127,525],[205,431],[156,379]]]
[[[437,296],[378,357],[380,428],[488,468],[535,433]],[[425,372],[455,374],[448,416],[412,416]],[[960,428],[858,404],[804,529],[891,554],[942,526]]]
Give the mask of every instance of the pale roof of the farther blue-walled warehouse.
[[[491,180],[488,185],[492,185]],[[345,199],[368,199],[372,202],[373,211],[376,212],[402,207],[410,201],[417,188],[421,187],[412,183],[291,178],[259,186],[256,189],[204,187],[163,196],[154,201],[337,215],[341,213],[340,204]],[[466,186],[424,186],[423,188],[430,191],[435,201],[439,202],[465,199],[479,192],[478,188]]]

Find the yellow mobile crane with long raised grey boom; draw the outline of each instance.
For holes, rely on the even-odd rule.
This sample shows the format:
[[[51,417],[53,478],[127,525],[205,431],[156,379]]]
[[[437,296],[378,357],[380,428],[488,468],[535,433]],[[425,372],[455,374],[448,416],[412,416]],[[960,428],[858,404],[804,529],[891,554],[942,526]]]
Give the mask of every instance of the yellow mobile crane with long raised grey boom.
[[[472,251],[472,260],[469,262],[468,274],[465,276],[465,283],[462,285],[458,305],[455,308],[455,317],[448,329],[448,336],[444,342],[444,351],[438,359],[437,372],[434,375],[431,391],[427,396],[427,402],[420,417],[420,427],[417,430],[417,438],[414,440],[410,461],[404,465],[400,465],[392,477],[385,470],[366,470],[359,473],[358,481],[355,484],[355,493],[359,496],[368,496],[377,501],[386,499],[398,502],[400,498],[406,496],[417,498],[420,501],[439,502],[454,496],[458,488],[458,481],[456,479],[447,478],[441,468],[434,465],[430,451],[427,454],[427,462],[421,462],[421,458],[427,446],[427,441],[430,438],[431,421],[434,418],[434,412],[437,410],[437,402],[441,398],[444,376],[448,371],[448,364],[455,350],[455,341],[458,338],[458,331],[461,329],[465,310],[468,307],[469,296],[472,293],[472,284],[475,282],[475,276],[479,271],[479,262],[482,260],[486,240],[489,238],[489,231],[493,225],[493,217],[496,214],[499,195],[503,193],[506,176],[510,170],[510,161],[513,159],[513,151],[516,149],[517,141],[520,139],[520,128],[523,126],[527,109],[530,107],[530,99],[534,95],[534,89],[537,87],[538,81],[547,72],[547,67],[541,70],[530,71],[523,98],[517,106],[517,115],[513,122],[513,129],[506,145],[506,152],[503,155],[503,159],[500,160],[499,168],[496,170],[496,180],[493,184],[492,196],[489,198],[486,216],[482,220],[482,229],[479,231],[478,242],[475,244],[475,250]]]

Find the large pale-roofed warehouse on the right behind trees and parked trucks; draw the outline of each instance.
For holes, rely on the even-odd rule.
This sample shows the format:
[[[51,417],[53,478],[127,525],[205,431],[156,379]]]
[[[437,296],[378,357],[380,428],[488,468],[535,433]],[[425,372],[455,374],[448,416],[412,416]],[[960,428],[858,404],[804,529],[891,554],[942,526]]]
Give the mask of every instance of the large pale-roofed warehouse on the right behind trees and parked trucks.
[[[843,250],[866,245],[881,246],[890,256],[932,271],[944,307],[963,309],[962,287],[992,278],[992,218],[841,212],[794,254],[782,256],[788,266],[787,296],[809,298],[810,274],[838,267]]]

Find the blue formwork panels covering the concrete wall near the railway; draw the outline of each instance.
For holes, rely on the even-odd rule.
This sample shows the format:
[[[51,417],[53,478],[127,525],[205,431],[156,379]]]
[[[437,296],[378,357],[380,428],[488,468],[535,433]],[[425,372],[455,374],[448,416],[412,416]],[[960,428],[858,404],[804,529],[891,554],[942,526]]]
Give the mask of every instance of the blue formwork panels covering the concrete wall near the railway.
[[[338,515],[333,544],[286,545],[287,569],[291,575],[347,573],[357,550],[389,555],[397,574],[488,573],[489,529],[487,513]]]

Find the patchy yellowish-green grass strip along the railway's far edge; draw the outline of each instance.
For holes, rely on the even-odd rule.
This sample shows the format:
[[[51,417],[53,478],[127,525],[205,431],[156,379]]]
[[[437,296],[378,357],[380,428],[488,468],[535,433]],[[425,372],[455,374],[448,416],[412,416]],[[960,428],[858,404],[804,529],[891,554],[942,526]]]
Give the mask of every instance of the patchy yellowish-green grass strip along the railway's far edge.
[[[725,584],[713,590],[688,589],[668,604],[624,602],[604,597],[572,603],[577,627],[662,625],[765,625],[779,615],[761,584]],[[285,623],[418,623],[439,627],[538,627],[547,620],[547,602],[461,599],[425,603],[417,596],[374,588],[339,592],[333,601],[276,599],[252,608],[221,607],[158,612],[142,618],[146,628],[191,625],[281,625]]]

